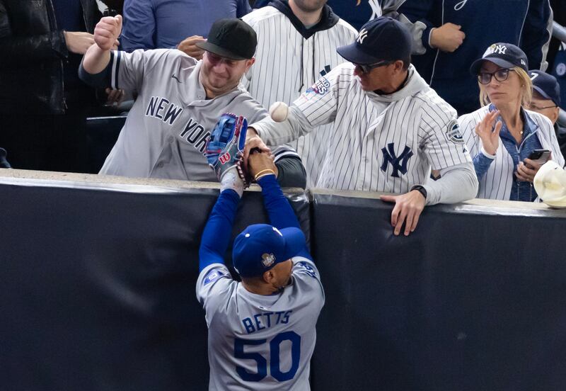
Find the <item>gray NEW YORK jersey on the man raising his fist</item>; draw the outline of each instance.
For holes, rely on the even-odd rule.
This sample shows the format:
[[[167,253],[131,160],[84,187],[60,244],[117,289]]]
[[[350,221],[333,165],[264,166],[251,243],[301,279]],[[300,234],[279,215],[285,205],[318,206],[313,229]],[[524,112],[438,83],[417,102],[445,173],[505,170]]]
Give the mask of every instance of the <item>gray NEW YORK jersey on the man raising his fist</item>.
[[[112,87],[138,97],[100,174],[216,181],[203,152],[220,115],[269,114],[242,86],[207,100],[201,64],[179,50],[111,52]]]

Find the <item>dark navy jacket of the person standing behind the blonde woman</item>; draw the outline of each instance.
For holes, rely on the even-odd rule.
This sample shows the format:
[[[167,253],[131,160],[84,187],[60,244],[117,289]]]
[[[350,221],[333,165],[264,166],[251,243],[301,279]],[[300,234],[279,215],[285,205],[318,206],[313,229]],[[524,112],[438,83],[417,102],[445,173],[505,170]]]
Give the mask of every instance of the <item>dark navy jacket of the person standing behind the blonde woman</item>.
[[[470,65],[495,42],[521,47],[529,59],[529,69],[541,69],[550,40],[548,0],[408,0],[398,8],[413,23],[427,28],[422,33],[424,55],[414,55],[417,71],[458,114],[480,108],[478,81],[470,75]],[[463,44],[453,53],[429,46],[430,30],[444,23],[461,26]]]

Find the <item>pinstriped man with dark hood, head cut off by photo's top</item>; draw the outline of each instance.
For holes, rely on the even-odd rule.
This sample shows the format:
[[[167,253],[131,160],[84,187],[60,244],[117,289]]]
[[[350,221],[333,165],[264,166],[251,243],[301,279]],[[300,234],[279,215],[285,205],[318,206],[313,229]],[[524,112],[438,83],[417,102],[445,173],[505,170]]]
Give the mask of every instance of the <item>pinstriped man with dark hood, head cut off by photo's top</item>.
[[[344,60],[336,48],[352,42],[357,31],[333,13],[326,0],[274,0],[243,17],[258,35],[255,58],[242,81],[264,107],[277,101],[291,104],[309,86]],[[321,125],[328,128],[331,125]],[[291,145],[316,186],[328,150],[324,130],[299,137]]]

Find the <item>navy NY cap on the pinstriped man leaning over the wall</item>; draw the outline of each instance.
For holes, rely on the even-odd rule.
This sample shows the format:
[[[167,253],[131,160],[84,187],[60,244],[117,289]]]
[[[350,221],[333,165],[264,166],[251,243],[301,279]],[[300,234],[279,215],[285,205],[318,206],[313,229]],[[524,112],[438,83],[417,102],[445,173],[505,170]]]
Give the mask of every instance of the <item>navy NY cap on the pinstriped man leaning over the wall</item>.
[[[353,43],[336,49],[346,60],[360,65],[383,60],[405,60],[411,55],[409,30],[393,18],[381,16],[362,26]]]

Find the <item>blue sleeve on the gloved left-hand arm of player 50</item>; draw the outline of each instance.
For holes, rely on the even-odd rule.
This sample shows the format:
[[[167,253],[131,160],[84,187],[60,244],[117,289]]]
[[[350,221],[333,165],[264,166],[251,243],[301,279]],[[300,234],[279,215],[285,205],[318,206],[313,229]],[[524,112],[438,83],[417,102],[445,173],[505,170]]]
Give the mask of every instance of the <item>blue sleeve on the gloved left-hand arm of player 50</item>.
[[[200,240],[199,272],[212,263],[224,264],[224,254],[230,244],[231,227],[236,217],[238,203],[240,196],[232,189],[221,192],[216,200]]]

